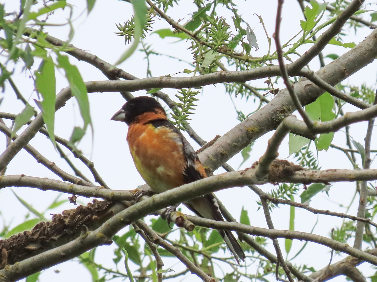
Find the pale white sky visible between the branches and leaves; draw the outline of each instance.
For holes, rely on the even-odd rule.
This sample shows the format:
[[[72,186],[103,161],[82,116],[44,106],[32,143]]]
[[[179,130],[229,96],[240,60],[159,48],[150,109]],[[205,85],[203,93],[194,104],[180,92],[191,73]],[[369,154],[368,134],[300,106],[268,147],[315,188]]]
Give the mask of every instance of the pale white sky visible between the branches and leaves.
[[[93,11],[86,17],[86,12],[84,11],[84,1],[75,3],[73,22],[75,35],[72,40],[72,44],[76,47],[83,49],[87,52],[97,55],[104,61],[114,63],[121,53],[124,52],[128,47],[124,45],[123,37],[116,36],[113,32],[118,30],[115,27],[116,23],[123,23],[128,20],[133,14],[132,6],[128,3],[122,1],[97,1]],[[4,3],[4,0],[0,1]],[[252,50],[251,55],[262,56],[265,50],[268,48],[267,39],[265,37],[262,25],[259,23],[259,19],[256,14],[261,15],[264,20],[266,29],[270,37],[272,37],[275,24],[276,15],[276,4],[275,0],[265,0],[263,2],[257,1],[238,1],[238,9],[242,14],[242,18],[247,21],[251,28],[254,29],[256,34],[258,44],[260,49],[258,51]],[[14,0],[5,1],[5,9],[7,12],[11,12],[18,9],[19,4]],[[189,20],[189,12],[192,12],[193,5],[191,1],[180,1],[179,5],[168,11],[168,14],[172,16],[175,20],[178,18],[183,19],[182,22]],[[374,6],[368,6],[367,9],[374,9]],[[54,15],[50,17],[52,22],[61,23],[64,18],[67,18],[69,11],[66,9],[64,12],[57,11]],[[82,14],[81,14],[82,13]],[[228,11],[224,10],[224,15],[228,15]],[[218,14],[220,16],[220,14]],[[282,34],[281,41],[285,42],[289,38],[293,37],[297,32],[299,32],[299,20],[303,18],[302,12],[299,9],[296,1],[286,1],[284,4],[283,16],[282,16]],[[368,20],[369,17],[366,17]],[[154,30],[168,28],[169,26],[165,21],[156,19],[156,23],[153,26]],[[227,20],[228,24],[233,25],[231,18]],[[47,27],[49,34],[55,36],[59,39],[66,40],[68,38],[69,26],[64,27]],[[356,44],[361,42],[365,36],[370,33],[369,29],[360,30],[356,35],[353,30],[349,31],[349,42],[354,41]],[[190,46],[189,42],[181,41],[178,43],[167,43],[175,42],[176,39],[162,40],[158,35],[152,34],[147,37],[147,43],[152,44],[152,48],[158,52],[167,54],[170,56],[178,56],[187,61],[192,61],[192,56],[190,55],[190,50],[186,50]],[[274,50],[274,41],[272,49]],[[306,49],[307,47],[305,47]],[[347,50],[342,47],[333,47],[331,50],[326,49],[324,55],[329,53],[337,53],[341,55]],[[304,52],[304,51],[303,51]],[[293,59],[295,59],[293,57]],[[106,80],[106,77],[98,71],[97,69],[89,66],[86,63],[78,62],[77,60],[70,58],[70,62],[78,66],[84,81],[92,80]],[[223,60],[225,63],[225,60]],[[329,59],[325,59],[326,63],[329,63]],[[146,76],[146,60],[144,59],[144,54],[141,52],[134,53],[127,61],[120,65],[125,71],[133,74],[137,77]],[[183,62],[178,62],[167,58],[166,56],[151,56],[151,66],[153,76],[164,76],[167,74],[175,74],[182,71],[184,68],[189,68],[190,65]],[[319,65],[317,64],[317,59],[313,60],[313,64],[310,64],[313,70],[317,70]],[[361,85],[363,82],[368,83],[368,85],[373,85],[376,82],[376,64],[373,63],[365,68],[362,72],[349,78],[355,85]],[[29,78],[29,74],[21,72],[20,68],[17,68],[17,75],[14,80],[19,87],[21,93],[26,99],[32,102],[32,99],[37,99],[35,92],[33,92],[33,81]],[[185,74],[179,73],[175,76],[184,76]],[[262,79],[260,81],[252,81],[250,85],[253,86],[265,86]],[[346,81],[347,83],[348,81]],[[67,86],[67,82],[62,76],[57,79],[57,91],[61,88]],[[283,85],[275,86],[284,88]],[[175,89],[163,89],[164,92],[170,94],[170,98],[174,99]],[[135,96],[144,95],[145,91],[135,92]],[[130,158],[128,147],[126,144],[126,132],[127,127],[124,124],[110,121],[112,115],[121,108],[124,103],[124,99],[119,93],[92,93],[90,95],[90,109],[92,115],[92,121],[94,126],[93,135],[93,147],[92,147],[92,136],[87,135],[79,145],[79,149],[82,150],[87,158],[90,158],[96,169],[99,171],[107,185],[112,189],[133,189],[137,185],[143,184],[143,180],[139,177],[132,159]],[[199,97],[198,97],[199,96]],[[233,110],[233,104],[230,98],[225,94],[224,88],[221,85],[206,86],[202,94],[197,97],[201,99],[198,101],[198,109],[195,114],[191,116],[191,125],[194,130],[206,141],[210,141],[216,135],[223,135],[232,127],[234,127],[238,121],[236,120],[236,113]],[[23,109],[23,105],[20,101],[14,99],[14,92],[9,85],[6,85],[5,93],[2,95],[4,97],[2,104],[0,105],[0,111],[18,113]],[[241,97],[237,97],[235,103],[239,109],[242,109],[245,113],[251,112],[256,109],[257,105],[253,105],[252,99],[248,102]],[[34,105],[34,102],[32,102]],[[350,107],[350,111],[354,108]],[[213,117],[215,122],[213,121]],[[77,103],[74,99],[71,99],[64,109],[61,109],[56,114],[56,124],[55,131],[58,136],[69,139],[72,129],[75,125],[81,125],[80,113],[77,110]],[[22,130],[20,130],[21,132]],[[18,132],[18,133],[20,133]],[[357,129],[352,130],[352,136],[356,141],[363,144],[363,138],[365,136],[366,126],[357,126]],[[262,138],[258,139],[254,144],[253,152],[251,153],[251,158],[243,165],[242,168],[250,167],[250,165],[260,158],[267,147],[267,140],[272,135],[268,133]],[[344,133],[338,132],[335,135],[333,143],[337,144],[337,141],[341,145],[344,144]],[[190,140],[190,143],[195,149],[199,147],[194,141]],[[0,150],[5,148],[5,140],[2,138],[0,141]],[[39,152],[47,156],[51,161],[54,161],[59,167],[63,168],[67,172],[71,172],[70,168],[67,167],[64,161],[61,161],[58,154],[54,151],[51,142],[44,136],[37,134],[36,138],[31,141],[32,146],[34,146]],[[288,139],[285,140],[283,146],[280,149],[279,158],[286,158],[288,156]],[[336,150],[329,150],[329,153],[319,152],[318,154],[320,164],[323,169],[326,168],[351,168],[348,164],[345,156]],[[72,156],[71,156],[72,157]],[[241,162],[241,156],[236,156],[231,159],[228,163],[234,168],[238,168]],[[79,162],[77,162],[78,164]],[[89,176],[88,170],[84,166],[81,167],[87,176]],[[373,164],[372,164],[373,166]],[[215,173],[221,173],[222,170],[216,171]],[[29,156],[25,151],[21,151],[9,164],[6,174],[26,174],[30,176],[39,177],[49,177],[55,178],[56,176],[44,168],[42,165],[37,164],[37,162]],[[268,191],[271,189],[271,185],[263,185],[262,189]],[[14,188],[12,189],[23,199],[26,199],[31,205],[33,205],[38,211],[43,211],[57,196],[55,192],[43,192],[32,188]],[[303,190],[302,190],[303,191]],[[302,192],[300,191],[300,193]],[[324,193],[318,194],[311,205],[315,208],[329,209],[332,211],[345,212],[345,209],[340,209],[337,203],[342,203],[347,206],[351,201],[354,194],[354,185],[349,183],[339,183],[334,185],[330,192],[330,198],[328,198]],[[226,191],[219,191],[216,195],[222,200],[222,202],[227,206],[235,218],[239,218],[242,206],[248,210],[250,216],[251,224],[259,227],[266,227],[264,215],[261,210],[257,211],[258,206],[255,201],[257,197],[248,188],[233,188]],[[62,195],[61,199],[68,197],[69,195]],[[299,197],[296,198],[299,201]],[[80,197],[79,202],[87,203],[89,200]],[[335,202],[335,203],[334,203]],[[356,215],[358,200],[352,205],[349,214]],[[18,200],[15,198],[14,194],[11,192],[10,188],[2,189],[0,194],[0,207],[2,216],[5,218],[7,224],[11,223],[11,227],[23,222],[24,215],[27,210],[20,205]],[[60,213],[63,209],[74,208],[72,205],[66,204],[60,206],[59,208],[51,211],[52,213]],[[289,222],[289,208],[285,206],[280,206],[278,209],[274,209],[273,222],[276,229],[287,229]],[[31,218],[33,215],[31,215]],[[296,209],[296,230],[310,232],[317,220],[317,215]],[[319,223],[314,229],[314,233],[328,236],[330,230],[339,226],[341,220],[334,217],[324,217],[319,215]],[[1,228],[1,225],[0,225]],[[353,242],[348,242],[350,245]],[[302,246],[303,243],[299,241],[293,242],[293,247],[290,252],[291,255],[295,254]],[[280,246],[284,252],[284,240],[280,240]],[[274,253],[272,245],[269,249]],[[322,247],[314,243],[308,243],[307,249],[305,250],[305,255],[302,253],[296,260],[297,263],[307,262],[309,265],[313,265],[314,268],[320,269],[326,266],[329,261],[329,249],[327,247]],[[109,247],[100,247],[98,253],[101,255],[101,263],[104,265],[112,265],[112,249]],[[310,256],[308,256],[310,254]],[[228,253],[226,255],[229,255]],[[100,257],[98,256],[98,257]],[[339,256],[335,256],[333,262],[340,260]],[[121,264],[120,264],[121,265]],[[165,267],[172,268],[169,262],[165,262]],[[257,267],[253,265],[253,267]],[[173,266],[173,268],[178,272],[181,265]],[[369,265],[364,264],[363,269],[368,269]],[[67,277],[72,280],[72,272],[76,273],[73,280],[89,281],[90,274],[83,267],[78,267],[77,263],[66,262],[64,264],[57,265],[55,267],[46,270],[41,274],[41,281],[49,281],[54,279],[54,281],[66,281]],[[55,270],[59,270],[60,273],[55,273]],[[124,271],[124,269],[120,269]],[[249,271],[252,272],[252,271]],[[78,274],[79,273],[79,274]],[[369,275],[372,274],[371,271],[366,271]],[[187,275],[186,281],[200,281],[196,276]],[[271,279],[274,280],[274,279]],[[173,281],[173,279],[172,279]],[[174,280],[174,281],[178,281]],[[344,281],[344,277],[336,278],[332,281]]]

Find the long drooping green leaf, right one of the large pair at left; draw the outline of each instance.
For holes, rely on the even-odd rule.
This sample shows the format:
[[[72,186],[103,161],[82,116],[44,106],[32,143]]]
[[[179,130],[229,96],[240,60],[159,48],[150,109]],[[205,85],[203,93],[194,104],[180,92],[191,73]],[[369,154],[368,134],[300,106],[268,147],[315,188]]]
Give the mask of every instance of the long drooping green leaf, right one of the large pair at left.
[[[72,91],[72,96],[74,96],[77,100],[81,117],[84,120],[83,130],[85,132],[88,124],[91,125],[92,121],[90,119],[88,91],[84,80],[81,77],[78,68],[75,65],[70,64],[67,56],[58,54],[58,63],[59,67],[63,68],[66,73],[66,77]]]

